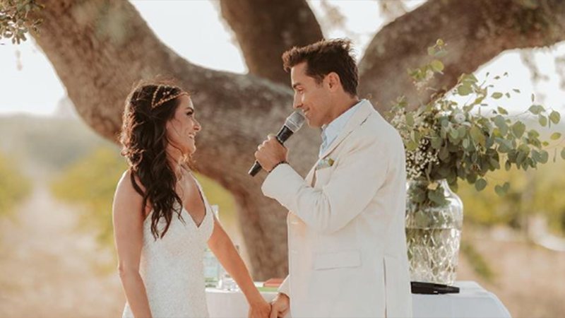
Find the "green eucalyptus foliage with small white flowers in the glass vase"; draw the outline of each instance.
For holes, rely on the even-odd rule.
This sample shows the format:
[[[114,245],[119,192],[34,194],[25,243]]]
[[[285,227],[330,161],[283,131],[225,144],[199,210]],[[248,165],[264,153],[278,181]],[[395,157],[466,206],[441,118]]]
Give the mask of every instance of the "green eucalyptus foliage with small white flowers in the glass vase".
[[[433,59],[429,64],[409,70],[419,90],[427,88],[427,83],[444,70],[440,58],[446,54],[445,43],[438,40],[429,47],[428,54]],[[499,78],[495,76],[494,80]],[[535,104],[534,95],[533,105],[522,114],[511,115],[504,107],[489,107],[488,100],[511,98],[512,94],[521,92],[495,91],[488,80],[492,81],[488,73],[482,83],[472,74],[463,74],[453,90],[432,96],[416,110],[409,110],[404,98],[399,98],[391,108],[389,121],[405,144],[408,180],[419,184],[408,193],[412,203],[446,204],[443,179],[451,189],[456,190],[458,179],[462,179],[481,191],[487,187],[489,181],[485,175],[489,171],[502,166],[510,170],[513,165],[528,170],[549,160],[546,150],[549,142],[540,140],[540,133],[528,129],[523,119],[537,117],[542,127],[552,129],[552,124],[558,124],[561,119],[559,112]],[[557,131],[550,137],[554,141],[561,138]],[[554,146],[553,150],[556,160],[558,149]],[[565,148],[561,149],[561,158],[565,159]],[[495,191],[504,195],[509,188],[509,182],[504,182],[496,184]]]

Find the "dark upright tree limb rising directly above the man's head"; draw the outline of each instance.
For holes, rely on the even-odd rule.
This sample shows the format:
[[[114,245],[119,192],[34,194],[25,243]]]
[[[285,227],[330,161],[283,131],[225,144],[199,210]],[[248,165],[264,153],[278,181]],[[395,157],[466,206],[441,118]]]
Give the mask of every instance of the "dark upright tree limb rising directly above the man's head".
[[[290,83],[280,59],[283,52],[323,38],[304,0],[220,1],[220,8],[234,30],[249,73],[275,83]]]

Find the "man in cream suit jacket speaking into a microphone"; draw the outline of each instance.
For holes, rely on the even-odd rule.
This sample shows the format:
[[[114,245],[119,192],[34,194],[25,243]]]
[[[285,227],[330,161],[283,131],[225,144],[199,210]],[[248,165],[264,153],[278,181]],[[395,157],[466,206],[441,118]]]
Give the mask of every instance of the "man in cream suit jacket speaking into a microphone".
[[[398,132],[357,97],[348,40],[283,54],[293,107],[321,127],[303,179],[273,137],[255,153],[263,194],[288,210],[289,271],[271,317],[411,317],[405,243],[405,157]]]

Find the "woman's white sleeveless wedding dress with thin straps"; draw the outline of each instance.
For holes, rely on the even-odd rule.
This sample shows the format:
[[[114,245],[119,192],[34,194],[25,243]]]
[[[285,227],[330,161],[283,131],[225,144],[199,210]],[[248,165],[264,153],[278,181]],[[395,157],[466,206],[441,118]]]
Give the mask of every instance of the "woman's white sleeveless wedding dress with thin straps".
[[[196,225],[188,211],[182,208],[184,222],[173,213],[165,236],[154,240],[150,214],[143,223],[140,273],[151,314],[155,318],[208,317],[203,254],[208,238],[212,235],[214,218],[198,181],[196,184],[206,210],[200,225]],[[160,230],[165,226],[164,218],[159,225]],[[127,303],[122,317],[133,317]]]

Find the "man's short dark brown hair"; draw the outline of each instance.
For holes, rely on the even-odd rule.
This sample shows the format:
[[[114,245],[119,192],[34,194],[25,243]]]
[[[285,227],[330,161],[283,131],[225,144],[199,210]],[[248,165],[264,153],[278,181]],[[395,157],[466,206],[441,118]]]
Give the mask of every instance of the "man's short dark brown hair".
[[[357,95],[359,76],[350,40],[321,40],[305,47],[292,47],[283,53],[285,71],[304,61],[307,62],[306,74],[315,78],[317,83],[335,72],[340,76],[343,90],[352,96]]]

